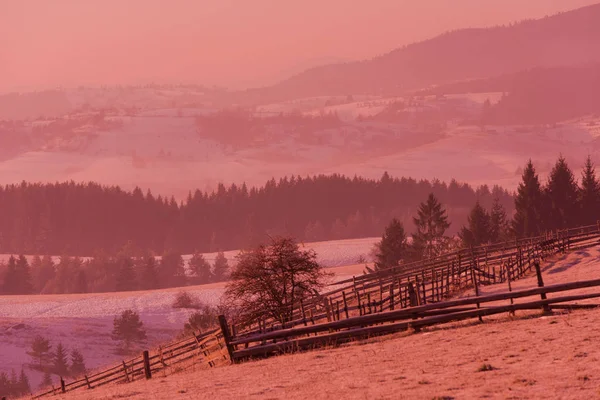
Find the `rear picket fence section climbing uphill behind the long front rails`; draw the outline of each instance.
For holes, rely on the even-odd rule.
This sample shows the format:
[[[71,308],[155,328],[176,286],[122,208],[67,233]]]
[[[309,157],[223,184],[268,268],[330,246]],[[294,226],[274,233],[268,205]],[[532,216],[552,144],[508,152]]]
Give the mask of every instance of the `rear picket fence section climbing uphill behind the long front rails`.
[[[599,243],[600,225],[552,232],[447,253],[442,256],[354,276],[330,285],[331,290],[295,305],[284,325],[265,316],[250,326],[232,326],[242,335],[267,333],[300,325],[391,311],[443,301],[481,285],[510,282],[527,274],[536,263],[561,252]]]

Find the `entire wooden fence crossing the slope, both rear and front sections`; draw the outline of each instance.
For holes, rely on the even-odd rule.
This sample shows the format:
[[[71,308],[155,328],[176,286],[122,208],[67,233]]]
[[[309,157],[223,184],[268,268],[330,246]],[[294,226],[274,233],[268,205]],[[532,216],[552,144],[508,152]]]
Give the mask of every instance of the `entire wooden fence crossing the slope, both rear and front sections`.
[[[577,305],[570,302],[600,297],[600,291],[552,299],[547,294],[595,288],[600,286],[600,279],[544,287],[540,262],[551,255],[599,243],[600,224],[461,250],[340,280],[330,285],[330,291],[298,304],[292,320],[285,324],[265,317],[242,329],[228,325],[221,315],[217,330],[171,343],[152,354],[146,351],[73,382],[65,383],[61,378],[60,387],[34,398],[149,379],[153,373],[185,361],[213,367],[227,360],[237,362],[469,318],[481,320],[516,310],[574,308]],[[512,291],[511,282],[532,270],[537,273],[539,287]],[[507,283],[508,292],[479,295],[480,285],[495,283]],[[474,288],[475,296],[446,301],[466,288]],[[532,296],[540,299],[515,303],[516,299]],[[510,304],[482,306],[502,300]]]

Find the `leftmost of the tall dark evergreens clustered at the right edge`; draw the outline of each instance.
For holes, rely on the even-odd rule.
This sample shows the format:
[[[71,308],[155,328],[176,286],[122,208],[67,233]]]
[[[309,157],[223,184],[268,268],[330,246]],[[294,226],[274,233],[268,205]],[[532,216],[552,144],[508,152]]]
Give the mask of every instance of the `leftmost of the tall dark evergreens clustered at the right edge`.
[[[517,237],[535,236],[542,231],[542,188],[531,160],[517,189],[512,229]]]

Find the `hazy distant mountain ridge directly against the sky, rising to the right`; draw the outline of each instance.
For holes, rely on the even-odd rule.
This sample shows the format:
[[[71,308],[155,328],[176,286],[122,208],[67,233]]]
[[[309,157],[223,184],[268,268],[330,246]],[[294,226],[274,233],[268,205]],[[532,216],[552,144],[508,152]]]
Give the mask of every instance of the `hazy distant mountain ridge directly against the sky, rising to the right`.
[[[236,93],[241,104],[348,94],[399,94],[535,67],[600,62],[600,4],[510,26],[462,29],[370,60],[308,69]]]

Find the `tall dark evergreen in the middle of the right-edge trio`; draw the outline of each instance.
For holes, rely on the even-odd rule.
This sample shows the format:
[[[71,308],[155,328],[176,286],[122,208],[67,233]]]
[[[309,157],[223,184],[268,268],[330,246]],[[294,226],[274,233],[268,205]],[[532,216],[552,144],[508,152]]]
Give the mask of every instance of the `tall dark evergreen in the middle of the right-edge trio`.
[[[546,229],[564,229],[577,225],[577,182],[564,157],[559,157],[546,186],[548,199]]]

